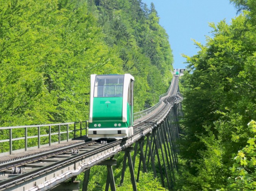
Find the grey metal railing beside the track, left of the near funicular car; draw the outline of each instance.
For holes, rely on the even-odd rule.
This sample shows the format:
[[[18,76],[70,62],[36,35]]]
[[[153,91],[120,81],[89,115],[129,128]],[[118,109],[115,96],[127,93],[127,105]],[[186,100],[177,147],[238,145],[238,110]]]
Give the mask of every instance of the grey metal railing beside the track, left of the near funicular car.
[[[87,127],[88,121],[0,127],[0,150],[1,153],[6,152],[9,145],[9,154],[11,155],[14,150],[23,149],[27,151],[30,147],[40,148],[63,141],[68,142],[72,138],[81,137],[82,133],[87,136]],[[15,148],[13,148],[13,142],[15,141],[17,142]]]

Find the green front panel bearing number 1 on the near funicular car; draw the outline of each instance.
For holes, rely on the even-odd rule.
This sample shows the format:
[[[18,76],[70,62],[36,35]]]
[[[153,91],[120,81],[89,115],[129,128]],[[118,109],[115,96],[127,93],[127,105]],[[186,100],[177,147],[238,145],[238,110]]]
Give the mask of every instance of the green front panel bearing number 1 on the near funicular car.
[[[122,97],[93,98],[93,121],[122,121]]]

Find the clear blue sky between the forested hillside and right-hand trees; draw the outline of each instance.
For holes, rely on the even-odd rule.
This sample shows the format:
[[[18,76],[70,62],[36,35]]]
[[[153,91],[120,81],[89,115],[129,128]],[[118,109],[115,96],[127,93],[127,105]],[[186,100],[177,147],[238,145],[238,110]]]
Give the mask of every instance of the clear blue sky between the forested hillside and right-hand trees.
[[[205,44],[205,36],[211,36],[209,22],[217,24],[223,19],[230,24],[236,9],[229,0],[142,0],[150,8],[154,3],[160,25],[169,35],[174,55],[174,68],[185,68],[186,59],[180,54],[193,56],[198,49],[191,39]]]

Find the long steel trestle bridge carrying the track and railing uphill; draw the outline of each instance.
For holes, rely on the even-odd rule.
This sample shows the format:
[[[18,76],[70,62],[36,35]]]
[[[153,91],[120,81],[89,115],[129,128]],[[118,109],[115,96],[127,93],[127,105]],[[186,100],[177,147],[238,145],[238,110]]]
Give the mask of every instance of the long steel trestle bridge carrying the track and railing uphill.
[[[133,190],[136,191],[136,181],[142,168],[147,172],[150,162],[154,177],[160,176],[163,187],[171,190],[175,181],[174,171],[178,171],[178,157],[180,139],[179,117],[183,116],[183,98],[179,93],[178,76],[174,76],[167,93],[161,95],[155,106],[138,113],[134,113],[134,135],[113,142],[85,141],[87,122],[72,122],[66,124],[48,124],[38,126],[21,126],[24,137],[13,138],[12,130],[18,127],[0,127],[1,131],[9,131],[9,152],[0,155],[0,191],[46,191],[61,190],[66,180],[72,180],[72,186],[65,190],[76,190],[75,178],[85,173],[83,191],[87,190],[90,169],[95,165],[107,166],[108,175],[106,189],[115,191],[115,179],[112,166],[117,164],[114,156],[123,151],[124,161],[120,185],[124,181],[126,165],[130,169]],[[72,128],[70,128],[72,126]],[[28,129],[37,129],[36,136],[28,136]],[[42,134],[46,128],[46,134]],[[57,129],[53,131],[53,129]],[[62,129],[62,130],[61,130]],[[64,129],[64,130],[63,130]],[[54,133],[52,133],[54,132]],[[61,136],[65,135],[65,140]],[[70,135],[74,137],[70,139]],[[55,137],[56,144],[52,143]],[[48,138],[48,147],[41,146],[40,140]],[[29,148],[28,139],[37,138],[37,147]],[[13,151],[12,142],[24,140],[24,149]],[[133,147],[134,146],[134,147]],[[134,151],[132,158],[131,152]],[[139,169],[137,178],[134,175],[135,157],[139,153]],[[160,160],[160,156],[163,160]],[[128,163],[126,164],[128,160]],[[159,173],[156,172],[158,165]],[[171,174],[168,174],[167,171]],[[64,190],[64,189],[63,189]]]

